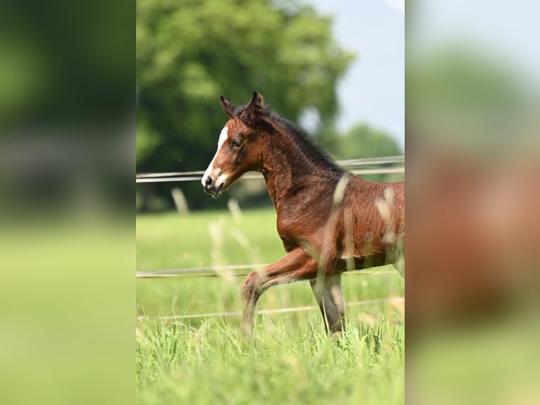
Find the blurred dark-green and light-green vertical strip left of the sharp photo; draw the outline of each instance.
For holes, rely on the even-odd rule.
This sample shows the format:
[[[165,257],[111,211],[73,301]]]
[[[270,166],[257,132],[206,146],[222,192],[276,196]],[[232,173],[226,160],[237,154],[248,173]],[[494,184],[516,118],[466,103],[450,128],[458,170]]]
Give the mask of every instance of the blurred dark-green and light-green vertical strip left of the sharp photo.
[[[135,402],[134,65],[131,1],[0,2],[2,404]]]

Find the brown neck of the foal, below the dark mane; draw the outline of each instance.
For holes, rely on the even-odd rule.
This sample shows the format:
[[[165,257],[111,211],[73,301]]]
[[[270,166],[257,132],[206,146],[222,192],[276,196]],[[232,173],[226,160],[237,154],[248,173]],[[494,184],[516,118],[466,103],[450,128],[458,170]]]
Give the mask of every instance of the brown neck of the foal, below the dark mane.
[[[330,177],[329,183],[333,182],[332,179],[336,183],[339,180],[341,174],[333,171],[323,160],[310,156],[286,128],[278,126],[275,133],[266,136],[274,138],[264,140],[262,174],[276,209],[283,200],[297,195],[301,198],[302,188],[317,186],[321,179]]]

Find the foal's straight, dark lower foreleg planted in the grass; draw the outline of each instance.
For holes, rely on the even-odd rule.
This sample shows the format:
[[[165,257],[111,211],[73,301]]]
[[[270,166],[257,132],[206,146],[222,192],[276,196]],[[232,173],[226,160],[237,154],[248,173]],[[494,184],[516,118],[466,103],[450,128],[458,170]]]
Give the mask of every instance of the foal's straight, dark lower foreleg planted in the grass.
[[[341,273],[311,280],[309,284],[317,298],[325,320],[326,332],[338,334],[345,330],[345,308],[341,291]]]

